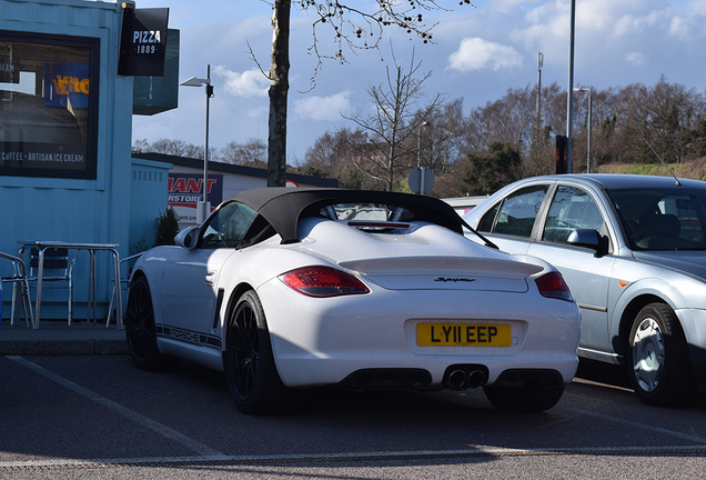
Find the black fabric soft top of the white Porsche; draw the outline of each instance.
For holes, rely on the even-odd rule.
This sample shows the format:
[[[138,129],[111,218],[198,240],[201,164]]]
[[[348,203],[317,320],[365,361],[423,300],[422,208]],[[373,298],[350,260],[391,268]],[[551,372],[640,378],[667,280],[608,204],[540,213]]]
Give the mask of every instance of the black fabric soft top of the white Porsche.
[[[270,187],[242,191],[231,200],[255,209],[282,237],[282,243],[300,240],[296,234],[299,219],[319,217],[324,207],[337,203],[394,204],[413,212],[415,220],[436,223],[457,233],[463,234],[464,226],[470,228],[443,200],[410,193]]]

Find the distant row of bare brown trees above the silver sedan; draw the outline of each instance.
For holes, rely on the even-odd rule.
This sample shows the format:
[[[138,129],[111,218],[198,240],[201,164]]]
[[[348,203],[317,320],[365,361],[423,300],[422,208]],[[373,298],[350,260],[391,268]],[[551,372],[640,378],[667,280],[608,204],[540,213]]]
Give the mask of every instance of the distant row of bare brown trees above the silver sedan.
[[[390,86],[395,84],[393,73],[396,72],[389,70],[386,90],[371,88],[370,92],[383,98],[380,93],[395,91]],[[606,163],[654,163],[656,157],[645,139],[666,161],[683,161],[687,157],[699,160],[706,154],[704,93],[667,83],[664,79],[652,87],[634,83],[607,90],[591,87],[591,124],[587,96],[577,97],[574,109],[575,172],[586,170],[588,131],[592,133],[591,166],[594,172]],[[383,112],[370,119],[360,118],[357,129],[330,136],[325,143],[329,148],[317,141],[307,151],[305,166],[311,174],[337,178],[352,188],[389,189],[402,186],[407,169],[420,158],[422,164],[436,174],[432,194],[437,197],[490,191],[497,187],[485,183],[493,176],[497,177],[493,163],[502,163],[507,158],[505,153],[510,152],[514,160],[505,162],[506,166],[501,169],[503,181],[553,173],[556,166],[555,136],[563,134],[566,122],[566,92],[556,83],[543,87],[539,132],[534,124],[535,94],[536,90],[531,88],[510,89],[503,98],[473,108],[468,114],[464,114],[461,99],[440,102],[433,111],[410,108],[407,112],[413,114],[399,122],[396,131],[400,133],[385,133],[385,137],[377,132],[392,130],[387,128],[389,123],[383,126],[383,122],[393,116]],[[394,106],[395,102],[381,103]],[[424,121],[428,126],[420,128]],[[395,139],[394,154],[391,154],[391,138]],[[515,159],[515,152],[518,159]],[[392,179],[385,170],[391,167],[391,158],[395,166]],[[321,162],[316,163],[314,159]],[[484,162],[482,169],[476,169],[475,177],[466,174],[468,159]],[[349,162],[356,166],[357,176],[341,167]],[[484,184],[471,184],[473,182]]]

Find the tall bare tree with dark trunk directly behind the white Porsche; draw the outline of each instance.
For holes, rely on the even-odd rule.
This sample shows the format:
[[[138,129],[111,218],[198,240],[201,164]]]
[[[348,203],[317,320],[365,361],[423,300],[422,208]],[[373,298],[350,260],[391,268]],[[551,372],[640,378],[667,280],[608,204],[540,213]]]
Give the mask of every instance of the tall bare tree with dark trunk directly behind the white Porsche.
[[[346,50],[377,49],[387,27],[397,27],[423,42],[432,38],[433,26],[424,22],[424,12],[441,10],[441,0],[377,0],[376,9],[363,11],[359,2],[339,0],[294,0],[295,8],[313,13],[313,42],[310,50],[320,60],[333,58],[346,61]],[[471,3],[470,0],[456,0]],[[273,41],[270,67],[270,132],[268,140],[268,186],[284,186],[286,181],[286,109],[290,70],[290,13],[292,0],[273,0]],[[327,53],[320,49],[319,31],[330,28],[336,50]],[[345,50],[344,50],[345,49]],[[312,87],[319,66],[312,77]]]

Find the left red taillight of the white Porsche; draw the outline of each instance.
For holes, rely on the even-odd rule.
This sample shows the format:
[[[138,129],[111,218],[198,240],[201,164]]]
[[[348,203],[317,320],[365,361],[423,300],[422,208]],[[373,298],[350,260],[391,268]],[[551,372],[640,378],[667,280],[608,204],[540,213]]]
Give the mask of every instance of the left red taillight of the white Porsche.
[[[369,293],[365,284],[331,267],[304,267],[280,276],[285,286],[307,297],[337,297]]]

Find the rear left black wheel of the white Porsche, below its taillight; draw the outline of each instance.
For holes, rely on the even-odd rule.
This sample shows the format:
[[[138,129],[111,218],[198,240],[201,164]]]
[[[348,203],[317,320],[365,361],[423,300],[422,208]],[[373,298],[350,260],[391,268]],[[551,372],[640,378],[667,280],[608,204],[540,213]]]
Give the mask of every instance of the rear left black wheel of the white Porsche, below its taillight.
[[[278,413],[292,406],[293,392],[280,379],[264,310],[252,290],[243,293],[230,316],[224,370],[243,413]]]

